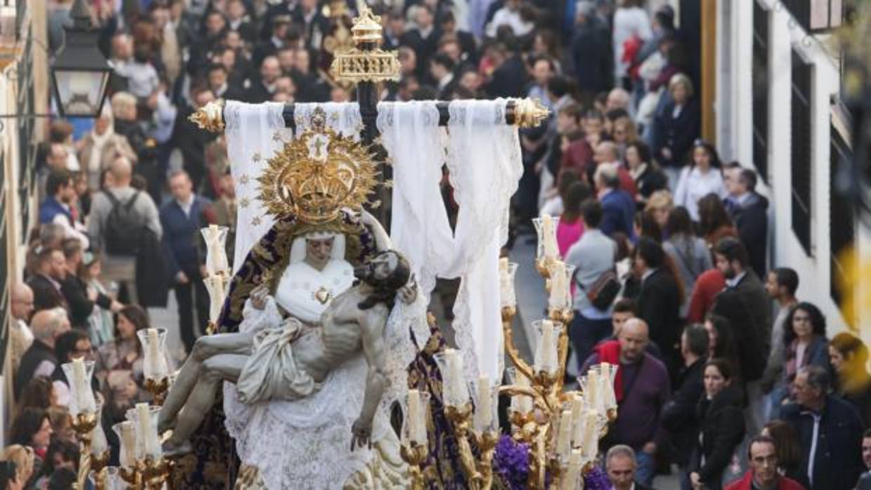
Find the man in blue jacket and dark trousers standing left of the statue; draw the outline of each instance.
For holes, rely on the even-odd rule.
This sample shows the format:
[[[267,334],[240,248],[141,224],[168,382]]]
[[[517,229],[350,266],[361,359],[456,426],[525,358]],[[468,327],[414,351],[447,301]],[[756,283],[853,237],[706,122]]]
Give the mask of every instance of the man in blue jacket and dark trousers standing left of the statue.
[[[211,202],[193,193],[191,178],[185,171],[172,172],[169,187],[172,200],[160,207],[163,248],[169,275],[175,281],[181,339],[191,352],[197,339],[194,306],[199,332],[205,332],[208,321],[209,296],[203,282],[206,254],[199,230],[213,221],[213,210]]]

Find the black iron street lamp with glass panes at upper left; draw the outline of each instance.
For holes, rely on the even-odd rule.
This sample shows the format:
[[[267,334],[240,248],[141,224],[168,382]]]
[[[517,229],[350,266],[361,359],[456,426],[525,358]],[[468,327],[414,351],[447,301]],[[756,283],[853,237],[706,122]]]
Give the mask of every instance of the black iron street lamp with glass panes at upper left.
[[[64,47],[51,66],[57,112],[60,117],[98,117],[112,69],[97,48],[98,33],[84,0],[76,0],[70,17]]]

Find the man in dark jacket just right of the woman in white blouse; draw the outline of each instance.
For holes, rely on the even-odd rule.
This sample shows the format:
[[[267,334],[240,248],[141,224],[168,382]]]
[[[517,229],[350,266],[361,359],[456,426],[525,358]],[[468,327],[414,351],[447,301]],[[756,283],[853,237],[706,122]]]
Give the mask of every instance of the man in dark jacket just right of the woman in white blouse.
[[[763,278],[768,245],[768,199],[756,192],[756,172],[738,162],[723,166],[723,178],[729,192],[723,204],[738,227],[753,272]]]

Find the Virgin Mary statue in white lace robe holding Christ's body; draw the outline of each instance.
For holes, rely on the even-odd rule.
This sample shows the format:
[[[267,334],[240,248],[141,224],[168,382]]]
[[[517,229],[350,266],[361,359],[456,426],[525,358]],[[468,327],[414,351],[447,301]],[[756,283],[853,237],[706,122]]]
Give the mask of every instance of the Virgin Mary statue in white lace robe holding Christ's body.
[[[316,136],[300,138],[299,144],[306,144]],[[336,138],[341,137],[327,138],[327,152],[341,150],[341,145],[334,145]],[[320,152],[320,145],[315,146]],[[312,150],[308,157],[317,159],[318,155]],[[365,211],[342,206],[325,218],[327,208],[306,207],[300,199],[307,195],[302,182],[314,180],[320,185],[321,198],[341,183],[317,184],[310,176],[282,180],[278,174],[287,177],[287,167],[295,164],[292,159],[279,165],[279,160],[275,159],[276,175],[270,177],[267,171],[261,188],[266,205],[282,204],[270,208],[275,224],[253,246],[231,281],[219,322],[222,332],[276,329],[287,325],[288,318],[299,320],[303,329],[318,329],[332,300],[354,284],[354,267],[390,248],[387,233]],[[359,172],[359,160],[356,165],[354,170]],[[359,177],[359,173],[351,175]],[[363,180],[356,185],[365,188]],[[270,193],[269,185],[282,183],[294,195],[293,201]],[[334,204],[348,203],[337,200]],[[359,203],[354,207],[359,209]],[[402,403],[408,386],[406,368],[418,351],[411,332],[420,335],[416,339],[421,345],[429,336],[428,327],[418,321],[424,318],[424,305],[413,288],[412,283],[399,293],[384,327],[388,388],[372,421],[371,446],[352,450],[351,445],[352,426],[360,417],[367,387],[368,365],[361,351],[332,368],[301,397],[299,391],[291,397],[282,392],[295,390],[295,386],[246,376],[238,385],[224,385],[225,424],[242,462],[240,478],[253,482],[251,487],[275,490],[406,487],[406,467],[389,416],[395,403]],[[267,366],[262,369],[268,371]]]

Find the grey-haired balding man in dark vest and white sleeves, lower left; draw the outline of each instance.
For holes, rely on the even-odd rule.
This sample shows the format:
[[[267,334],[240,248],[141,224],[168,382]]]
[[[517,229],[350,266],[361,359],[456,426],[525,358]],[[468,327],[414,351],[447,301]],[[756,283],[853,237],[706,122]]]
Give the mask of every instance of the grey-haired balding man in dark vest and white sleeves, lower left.
[[[21,395],[21,390],[30,379],[36,376],[51,376],[57,367],[57,357],[54,347],[58,337],[69,332],[70,319],[63,308],[42,310],[33,315],[30,320],[33,331],[33,344],[24,352],[21,365],[15,377],[15,397]]]

